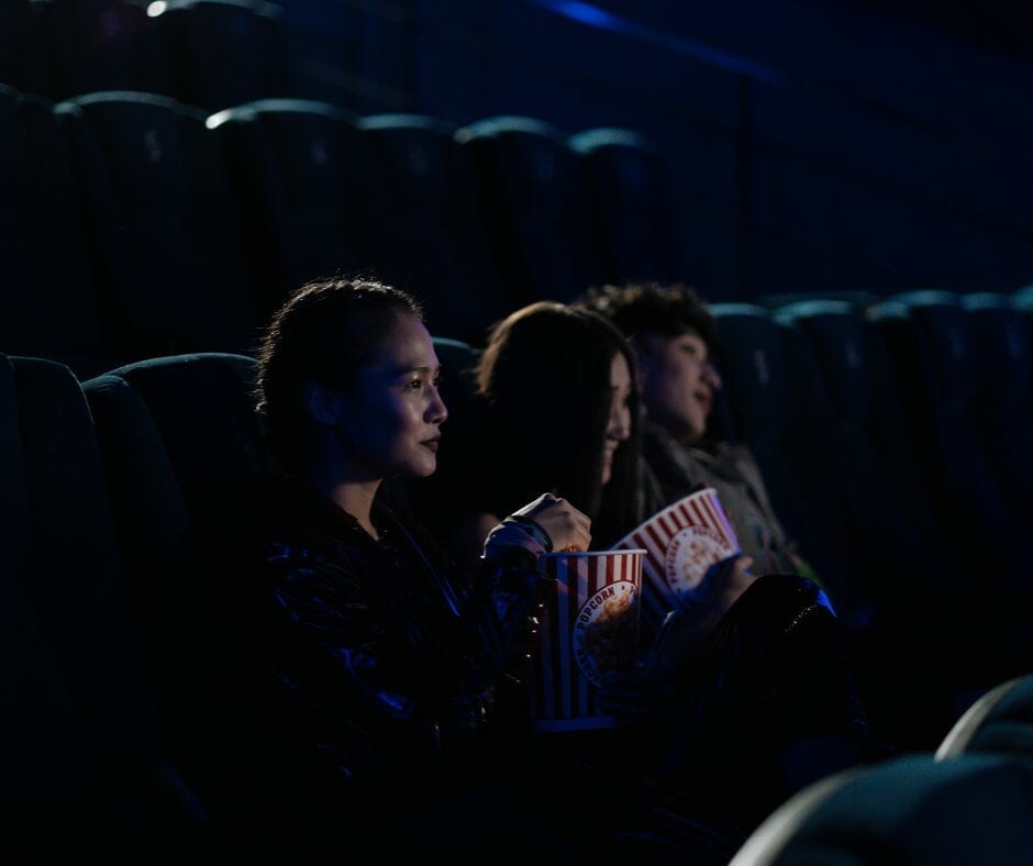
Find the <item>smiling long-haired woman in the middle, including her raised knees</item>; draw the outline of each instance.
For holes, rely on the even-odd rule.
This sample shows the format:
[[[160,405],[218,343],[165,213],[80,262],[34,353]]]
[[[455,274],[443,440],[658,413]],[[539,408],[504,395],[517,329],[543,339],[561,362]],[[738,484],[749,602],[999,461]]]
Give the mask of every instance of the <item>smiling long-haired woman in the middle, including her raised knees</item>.
[[[492,329],[475,370],[477,423],[443,466],[466,506],[459,562],[471,567],[498,515],[531,490],[587,514],[593,549],[659,510],[638,449],[635,368],[629,342],[590,310],[542,301]],[[604,682],[600,699],[623,733],[565,737],[559,751],[582,765],[620,751],[686,815],[717,810],[746,829],[807,781],[865,759],[864,713],[827,599],[796,574],[754,576],[752,564],[714,567],[640,664]]]

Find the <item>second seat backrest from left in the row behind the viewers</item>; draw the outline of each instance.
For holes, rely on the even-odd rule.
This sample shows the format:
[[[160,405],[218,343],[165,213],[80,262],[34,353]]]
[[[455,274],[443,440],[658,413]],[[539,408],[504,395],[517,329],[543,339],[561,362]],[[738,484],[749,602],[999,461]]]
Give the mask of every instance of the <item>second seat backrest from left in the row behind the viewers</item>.
[[[73,135],[109,345],[130,360],[249,351],[254,301],[204,115],[125,91],[55,112]]]

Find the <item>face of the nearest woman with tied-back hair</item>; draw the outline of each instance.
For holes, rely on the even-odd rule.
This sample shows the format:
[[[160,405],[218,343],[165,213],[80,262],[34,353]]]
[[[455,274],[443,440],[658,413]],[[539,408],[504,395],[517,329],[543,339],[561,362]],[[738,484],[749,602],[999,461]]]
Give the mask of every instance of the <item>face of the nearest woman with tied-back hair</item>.
[[[337,430],[353,477],[434,473],[438,428],[448,417],[437,392],[440,370],[426,327],[400,314],[357,387],[341,397]]]

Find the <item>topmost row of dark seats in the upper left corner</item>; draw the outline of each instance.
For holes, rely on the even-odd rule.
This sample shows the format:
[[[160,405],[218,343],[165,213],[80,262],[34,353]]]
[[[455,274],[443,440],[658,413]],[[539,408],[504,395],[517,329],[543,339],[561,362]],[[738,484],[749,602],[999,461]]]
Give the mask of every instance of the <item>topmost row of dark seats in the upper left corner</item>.
[[[210,111],[296,97],[284,13],[265,0],[4,0],[0,82],[53,100],[142,90]]]

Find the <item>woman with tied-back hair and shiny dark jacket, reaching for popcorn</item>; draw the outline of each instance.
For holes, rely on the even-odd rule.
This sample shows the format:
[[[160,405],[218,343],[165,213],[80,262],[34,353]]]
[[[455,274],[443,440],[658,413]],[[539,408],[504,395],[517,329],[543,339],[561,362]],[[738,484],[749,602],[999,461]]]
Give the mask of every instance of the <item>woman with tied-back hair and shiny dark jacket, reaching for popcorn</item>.
[[[370,280],[304,286],[263,335],[257,408],[286,471],[254,509],[243,609],[268,735],[245,734],[262,742],[245,820],[304,863],[575,863],[506,767],[552,591],[542,540],[587,547],[590,521],[538,491],[459,579],[385,484],[436,468],[438,375],[420,306]]]

